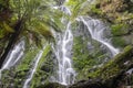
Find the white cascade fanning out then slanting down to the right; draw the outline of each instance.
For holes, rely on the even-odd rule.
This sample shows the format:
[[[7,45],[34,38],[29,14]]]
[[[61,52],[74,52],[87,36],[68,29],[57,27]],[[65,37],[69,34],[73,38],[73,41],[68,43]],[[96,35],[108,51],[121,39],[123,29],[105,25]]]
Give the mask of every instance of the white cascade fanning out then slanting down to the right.
[[[105,45],[113,56],[115,56],[119,53],[119,50],[111,45],[111,43],[106,41],[108,38],[104,37],[104,31],[106,28],[101,21],[91,19],[89,16],[80,16],[78,18],[78,21],[82,21],[83,24],[88,28],[91,37]]]

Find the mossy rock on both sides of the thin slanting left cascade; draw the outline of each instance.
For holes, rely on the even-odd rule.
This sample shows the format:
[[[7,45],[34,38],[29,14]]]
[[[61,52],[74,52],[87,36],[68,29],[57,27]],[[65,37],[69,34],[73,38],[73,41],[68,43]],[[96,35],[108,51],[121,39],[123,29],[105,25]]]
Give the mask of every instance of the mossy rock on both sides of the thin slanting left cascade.
[[[2,88],[22,88],[23,84],[27,79],[27,77],[30,75],[30,69],[33,65],[33,58],[35,57],[35,55],[39,53],[39,48],[33,47],[33,48],[27,48],[28,51],[25,52],[22,61],[20,62],[20,64],[18,64],[17,66],[11,67],[10,69],[3,70],[2,72],[2,78],[1,78],[1,84],[0,86],[2,86]],[[32,78],[32,80],[30,81],[30,88],[34,88],[38,85],[42,84],[43,80],[47,81],[49,75],[49,73],[51,73],[51,68],[50,67],[50,72],[45,72],[45,70],[41,70],[41,66],[43,63],[47,62],[47,67],[51,66],[49,65],[51,59],[47,61],[47,55],[50,52],[50,46],[47,46],[45,50],[43,51],[42,57],[40,59],[40,62],[38,63],[38,67],[37,70],[34,73],[34,76]],[[49,75],[48,75],[49,74]]]

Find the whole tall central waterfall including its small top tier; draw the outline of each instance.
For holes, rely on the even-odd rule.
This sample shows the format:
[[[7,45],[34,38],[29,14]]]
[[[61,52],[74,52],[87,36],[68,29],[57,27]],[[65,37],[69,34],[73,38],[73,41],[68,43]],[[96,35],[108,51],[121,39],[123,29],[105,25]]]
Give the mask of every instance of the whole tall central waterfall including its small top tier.
[[[68,2],[69,0],[65,0]],[[64,4],[60,7],[53,7],[53,9],[61,10],[64,14],[71,15],[71,11]],[[71,32],[71,22],[68,21],[65,16],[61,19],[62,24],[65,26],[65,31],[62,34],[55,34],[58,41],[55,47],[53,46],[53,52],[58,61],[57,77],[53,81],[62,85],[74,84],[75,72],[72,68],[71,50],[73,45],[73,34]]]

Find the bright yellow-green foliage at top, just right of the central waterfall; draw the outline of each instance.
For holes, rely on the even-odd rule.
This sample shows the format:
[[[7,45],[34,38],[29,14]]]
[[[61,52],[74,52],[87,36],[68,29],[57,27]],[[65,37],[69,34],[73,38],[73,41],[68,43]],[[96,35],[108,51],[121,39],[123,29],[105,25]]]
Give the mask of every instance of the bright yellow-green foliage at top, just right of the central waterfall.
[[[86,14],[100,14],[102,15],[101,9],[96,7],[98,1],[88,1],[88,0],[69,0],[66,6],[70,7],[72,15],[70,20],[74,20],[79,15]]]

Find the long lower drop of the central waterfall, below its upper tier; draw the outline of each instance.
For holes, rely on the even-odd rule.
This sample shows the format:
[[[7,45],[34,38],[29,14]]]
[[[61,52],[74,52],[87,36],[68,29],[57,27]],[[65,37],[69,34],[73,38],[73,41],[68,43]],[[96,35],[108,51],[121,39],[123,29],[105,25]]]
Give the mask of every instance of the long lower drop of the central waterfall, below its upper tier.
[[[64,34],[59,35],[57,38],[59,38],[58,44],[55,50],[53,48],[59,64],[59,69],[57,72],[58,78],[55,78],[55,81],[62,85],[74,84],[75,72],[72,68],[71,61],[73,35],[70,22],[66,25]]]

